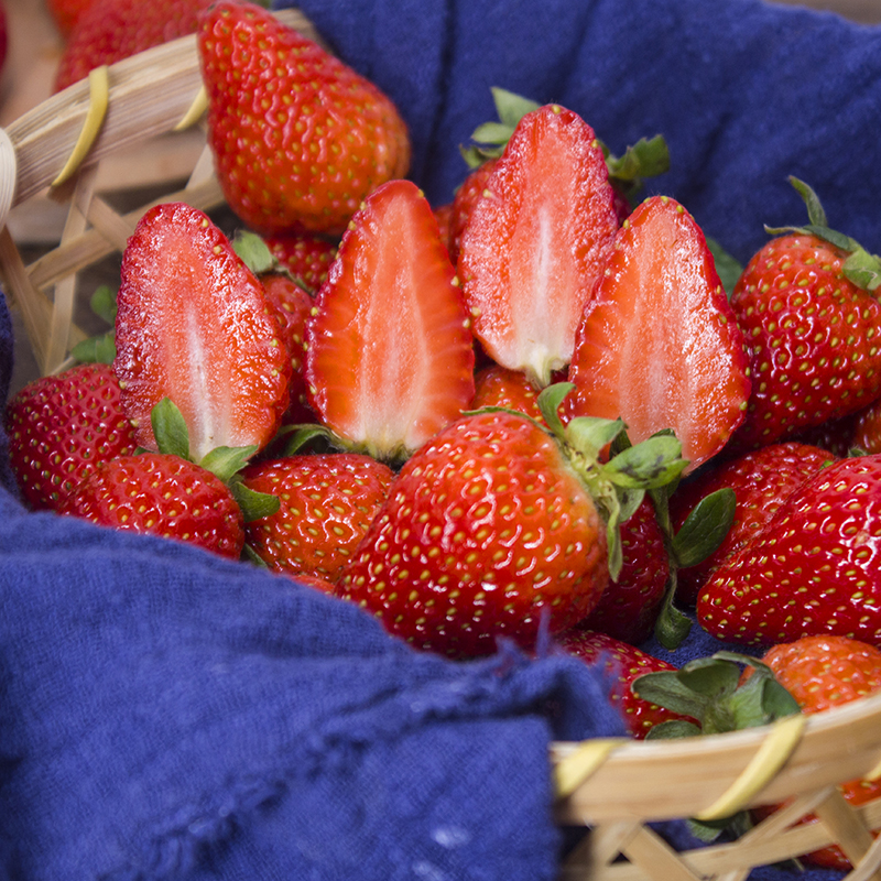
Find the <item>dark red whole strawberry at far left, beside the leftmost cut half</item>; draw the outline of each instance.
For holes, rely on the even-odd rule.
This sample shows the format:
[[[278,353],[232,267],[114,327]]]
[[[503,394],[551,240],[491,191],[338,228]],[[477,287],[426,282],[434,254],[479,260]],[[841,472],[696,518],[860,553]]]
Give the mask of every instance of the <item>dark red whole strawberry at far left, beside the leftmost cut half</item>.
[[[79,365],[25,385],[6,409],[10,465],[34,509],[57,509],[101,461],[134,453],[109,365]]]

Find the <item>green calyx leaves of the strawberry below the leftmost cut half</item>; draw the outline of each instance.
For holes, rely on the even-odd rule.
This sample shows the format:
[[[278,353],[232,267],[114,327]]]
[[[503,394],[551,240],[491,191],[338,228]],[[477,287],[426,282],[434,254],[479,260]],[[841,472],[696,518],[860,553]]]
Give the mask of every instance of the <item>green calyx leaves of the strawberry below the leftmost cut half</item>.
[[[150,424],[160,453],[194,461],[189,450],[186,421],[171,398],[163,398],[151,411]],[[254,492],[242,483],[240,471],[257,453],[255,446],[216,447],[195,463],[210,471],[229,487],[246,522],[274,514],[279,499],[265,492]]]

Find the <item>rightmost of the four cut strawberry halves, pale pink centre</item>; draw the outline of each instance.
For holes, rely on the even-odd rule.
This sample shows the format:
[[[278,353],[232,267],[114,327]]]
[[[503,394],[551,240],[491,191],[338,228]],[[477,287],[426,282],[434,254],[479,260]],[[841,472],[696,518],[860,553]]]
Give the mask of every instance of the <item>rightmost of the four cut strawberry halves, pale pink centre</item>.
[[[743,340],[706,239],[675,200],[643,202],[614,240],[569,368],[573,415],[621,417],[633,440],[673,429],[694,470],[743,417]]]

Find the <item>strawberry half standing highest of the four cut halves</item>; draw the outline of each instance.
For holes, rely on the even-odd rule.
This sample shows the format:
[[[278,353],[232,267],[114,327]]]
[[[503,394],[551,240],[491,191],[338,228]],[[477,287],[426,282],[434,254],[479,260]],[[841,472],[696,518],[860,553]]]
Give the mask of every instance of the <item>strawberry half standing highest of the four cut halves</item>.
[[[575,330],[618,220],[602,151],[572,110],[526,113],[461,235],[458,274],[475,336],[544,388]]]

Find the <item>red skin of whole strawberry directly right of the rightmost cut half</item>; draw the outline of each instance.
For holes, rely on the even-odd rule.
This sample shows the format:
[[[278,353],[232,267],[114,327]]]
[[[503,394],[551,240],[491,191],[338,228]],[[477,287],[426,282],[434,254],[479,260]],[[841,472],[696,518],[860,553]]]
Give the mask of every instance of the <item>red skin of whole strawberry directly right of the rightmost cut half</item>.
[[[842,273],[847,253],[814,236],[772,239],[731,294],[753,389],[742,448],[838,418],[881,393],[881,305]]]

